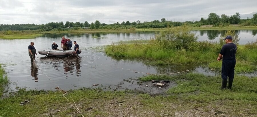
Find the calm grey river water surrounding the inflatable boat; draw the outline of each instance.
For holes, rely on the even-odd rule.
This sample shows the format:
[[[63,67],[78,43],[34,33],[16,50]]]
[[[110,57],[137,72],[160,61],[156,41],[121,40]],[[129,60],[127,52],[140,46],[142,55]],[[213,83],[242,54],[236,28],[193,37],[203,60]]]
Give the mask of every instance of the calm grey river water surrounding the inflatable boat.
[[[198,41],[218,41],[220,35],[223,35],[225,31],[208,30],[194,32],[196,35],[199,35]],[[65,90],[91,87],[92,84],[114,86],[123,82],[124,79],[147,75],[135,73],[135,71],[166,74],[180,72],[198,66],[150,66],[138,60],[109,57],[105,53],[94,49],[121,40],[126,41],[139,37],[149,39],[150,37],[154,37],[156,33],[158,32],[61,33],[45,34],[35,39],[0,39],[0,46],[2,48],[0,63],[5,64],[6,72],[8,72],[11,81],[10,88],[15,89],[15,87],[20,87],[45,90],[55,90],[56,85],[51,80]],[[236,33],[241,38],[239,41],[240,44],[254,41],[257,38],[257,30],[238,30]],[[82,49],[79,58],[71,57],[62,59],[48,57],[48,59],[45,59],[45,55],[38,54],[36,65],[30,63],[28,45],[31,41],[35,43],[34,46],[38,51],[49,49],[53,41],[61,45],[62,36],[69,37],[71,41],[77,41],[80,49]],[[193,72],[217,75],[208,70],[208,68],[198,68]]]

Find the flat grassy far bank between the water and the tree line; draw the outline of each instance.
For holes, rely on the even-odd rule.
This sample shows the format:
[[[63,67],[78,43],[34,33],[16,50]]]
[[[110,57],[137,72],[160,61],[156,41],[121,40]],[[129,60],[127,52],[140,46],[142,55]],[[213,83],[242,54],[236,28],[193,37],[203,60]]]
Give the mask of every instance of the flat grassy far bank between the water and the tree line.
[[[179,27],[171,27],[178,29]],[[226,27],[190,27],[190,30],[254,30],[256,26],[226,26]],[[79,32],[140,32],[140,31],[165,31],[166,28],[144,28],[144,29],[69,29],[51,31],[23,30],[23,31],[0,31],[0,39],[31,39],[42,36],[45,33],[79,33]]]

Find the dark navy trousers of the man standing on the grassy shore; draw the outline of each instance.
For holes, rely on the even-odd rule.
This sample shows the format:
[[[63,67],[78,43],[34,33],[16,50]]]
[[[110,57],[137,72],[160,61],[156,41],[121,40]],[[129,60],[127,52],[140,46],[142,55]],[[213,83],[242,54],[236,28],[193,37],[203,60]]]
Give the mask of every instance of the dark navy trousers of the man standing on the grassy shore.
[[[223,80],[232,80],[235,75],[236,60],[223,60],[221,66],[221,78]]]

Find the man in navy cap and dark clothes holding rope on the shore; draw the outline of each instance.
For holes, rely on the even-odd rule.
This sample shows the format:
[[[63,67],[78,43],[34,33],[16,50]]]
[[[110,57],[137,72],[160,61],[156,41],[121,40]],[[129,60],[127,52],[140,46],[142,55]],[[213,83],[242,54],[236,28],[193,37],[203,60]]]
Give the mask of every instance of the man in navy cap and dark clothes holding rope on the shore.
[[[221,78],[222,78],[222,86],[221,89],[225,89],[227,86],[228,80],[228,89],[231,90],[234,74],[235,74],[235,66],[236,66],[236,45],[232,42],[232,37],[227,36],[225,39],[226,44],[222,46],[218,61],[222,60],[221,66]]]

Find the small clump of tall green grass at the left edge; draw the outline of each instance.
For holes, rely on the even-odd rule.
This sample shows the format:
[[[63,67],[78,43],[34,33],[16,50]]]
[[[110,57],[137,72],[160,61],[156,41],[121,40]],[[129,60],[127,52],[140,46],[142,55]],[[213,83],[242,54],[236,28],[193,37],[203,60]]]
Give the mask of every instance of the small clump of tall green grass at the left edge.
[[[0,97],[3,95],[4,86],[8,83],[8,78],[5,69],[0,64]]]

